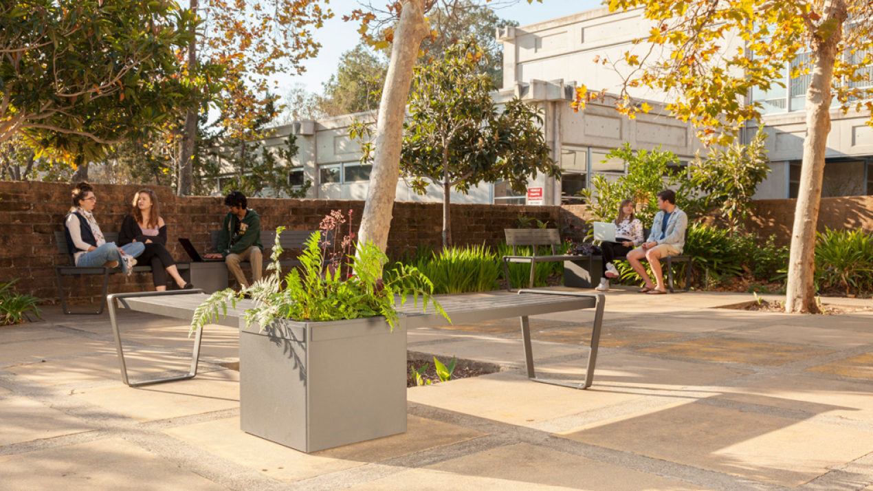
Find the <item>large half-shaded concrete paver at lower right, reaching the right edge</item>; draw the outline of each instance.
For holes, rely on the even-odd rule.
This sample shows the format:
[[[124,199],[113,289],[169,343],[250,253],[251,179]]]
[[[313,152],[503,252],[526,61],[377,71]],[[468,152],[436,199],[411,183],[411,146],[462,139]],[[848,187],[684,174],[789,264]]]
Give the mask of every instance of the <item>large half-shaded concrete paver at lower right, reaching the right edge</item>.
[[[699,403],[562,436],[788,487],[869,453],[873,442],[873,432]]]

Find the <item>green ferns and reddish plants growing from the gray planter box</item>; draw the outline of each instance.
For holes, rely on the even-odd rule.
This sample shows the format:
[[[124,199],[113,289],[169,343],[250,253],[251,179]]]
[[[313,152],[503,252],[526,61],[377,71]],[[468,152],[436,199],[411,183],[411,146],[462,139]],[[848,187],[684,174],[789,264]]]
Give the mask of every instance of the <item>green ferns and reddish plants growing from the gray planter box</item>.
[[[255,302],[255,307],[245,312],[246,328],[258,322],[262,330],[277,319],[322,322],[376,315],[383,315],[394,329],[395,307],[402,306],[410,295],[416,306],[421,297],[423,309],[432,304],[438,314],[449,318],[432,297],[433,283],[414,266],[398,265],[383,278],[388,257],[373,243],[354,250],[351,232],[339,240],[322,240],[331,234],[338,235],[345,223],[340,211],[331,212],[322,221],[320,231],[306,241],[298,258],[300,266],[284,277],[279,266],[283,252],[279,235],[285,227],[278,227],[267,275],[238,293],[228,288],[211,294],[196,309],[191,330],[226,315],[228,304],[236,308],[237,301],[245,296]]]

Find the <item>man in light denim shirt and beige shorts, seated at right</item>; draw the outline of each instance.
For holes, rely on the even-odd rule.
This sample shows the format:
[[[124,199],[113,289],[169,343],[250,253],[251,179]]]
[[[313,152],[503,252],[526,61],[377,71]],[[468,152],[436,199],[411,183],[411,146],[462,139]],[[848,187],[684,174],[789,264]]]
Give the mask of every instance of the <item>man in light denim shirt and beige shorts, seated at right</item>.
[[[649,239],[631,252],[627,258],[630,266],[639,273],[646,284],[640,290],[641,294],[666,294],[663,286],[663,271],[661,259],[682,254],[685,245],[685,228],[688,227],[688,215],[679,210],[676,205],[676,193],[663,190],[657,193],[657,207],[661,209],[655,215]],[[652,266],[656,282],[652,282],[641,260],[645,258]]]

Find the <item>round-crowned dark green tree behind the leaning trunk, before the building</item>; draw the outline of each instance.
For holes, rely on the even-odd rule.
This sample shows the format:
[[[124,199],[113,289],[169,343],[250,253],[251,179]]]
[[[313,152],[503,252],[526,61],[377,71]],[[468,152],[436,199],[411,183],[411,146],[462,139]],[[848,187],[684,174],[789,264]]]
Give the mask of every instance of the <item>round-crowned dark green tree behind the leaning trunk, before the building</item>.
[[[426,194],[429,184],[443,190],[443,247],[452,243],[452,189],[466,194],[477,183],[505,181],[524,192],[538,171],[560,174],[540,114],[518,99],[499,108],[491,99],[487,66],[484,50],[468,38],[414,73],[400,171],[418,194]],[[350,133],[364,140],[362,160],[369,160],[368,132],[359,123]]]

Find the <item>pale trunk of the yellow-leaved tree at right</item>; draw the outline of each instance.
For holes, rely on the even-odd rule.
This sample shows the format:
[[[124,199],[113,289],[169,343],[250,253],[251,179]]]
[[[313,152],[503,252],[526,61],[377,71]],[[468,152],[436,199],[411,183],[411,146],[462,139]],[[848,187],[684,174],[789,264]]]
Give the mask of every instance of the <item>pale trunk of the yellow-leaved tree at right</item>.
[[[824,156],[830,133],[831,82],[838,45],[842,39],[842,23],[847,11],[844,0],[828,0],[824,7],[826,20],[836,27],[827,38],[821,38],[821,28],[813,39],[812,81],[807,90],[807,137],[803,142],[801,182],[794,209],[791,252],[788,260],[786,312],[818,312],[815,303],[815,229],[821,205],[821,182],[824,176]]]

